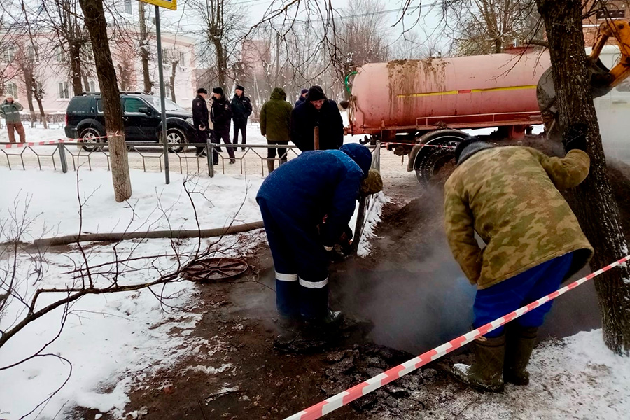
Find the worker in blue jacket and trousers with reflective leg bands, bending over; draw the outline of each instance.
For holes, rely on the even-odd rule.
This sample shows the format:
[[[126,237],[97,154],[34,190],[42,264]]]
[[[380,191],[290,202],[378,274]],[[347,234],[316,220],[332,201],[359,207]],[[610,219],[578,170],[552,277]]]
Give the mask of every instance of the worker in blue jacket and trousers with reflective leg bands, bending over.
[[[283,323],[325,328],[342,322],[340,312],[328,309],[330,251],[353,215],[371,162],[370,150],[360,144],[310,151],[281,165],[260,186],[256,201]]]

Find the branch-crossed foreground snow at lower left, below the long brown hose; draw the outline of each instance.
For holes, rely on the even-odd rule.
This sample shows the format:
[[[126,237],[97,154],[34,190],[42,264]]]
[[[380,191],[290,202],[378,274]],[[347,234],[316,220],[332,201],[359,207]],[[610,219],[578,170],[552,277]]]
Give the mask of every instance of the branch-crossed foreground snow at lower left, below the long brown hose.
[[[217,249],[227,250],[216,255],[245,253],[263,240],[262,231],[246,235],[245,244],[236,245],[236,237],[225,237]],[[241,237],[242,241],[243,237]],[[208,244],[208,241],[204,241]],[[196,246],[195,239],[181,243],[181,254],[190,255]],[[230,251],[230,249],[232,251]],[[151,241],[124,241],[116,249],[119,258],[133,253],[134,257],[160,255],[171,251],[168,239]],[[212,256],[212,255],[211,255]],[[89,253],[92,264],[111,261],[112,246],[96,246]],[[80,251],[74,246],[64,253],[45,255],[45,274],[39,287],[64,287],[72,283],[66,272],[80,264]],[[176,269],[172,258],[156,258],[152,263],[162,270]],[[32,274],[34,266],[27,256],[18,260],[18,272]],[[0,261],[4,267],[7,261]],[[158,271],[147,262],[131,263],[129,269],[138,269],[120,279],[121,284],[134,284],[157,278]],[[106,281],[106,279],[100,279]],[[31,286],[22,285],[22,290]],[[217,339],[193,337],[201,314],[197,307],[197,286],[189,281],[169,283],[154,288],[165,296],[164,305],[150,290],[139,290],[107,295],[82,297],[69,308],[62,333],[44,351],[55,356],[39,357],[8,370],[0,370],[0,415],[2,418],[52,419],[58,412],[73,407],[113,412],[114,418],[123,418],[127,394],[140,381],[151,377],[160,369],[169,369],[183,356],[193,354],[199,360],[212,360],[210,365],[197,365],[194,370],[216,374],[230,368],[213,360],[211,356],[222,345]],[[32,293],[32,290],[31,290]],[[28,293],[27,293],[28,295]],[[59,298],[62,295],[56,295]],[[38,307],[50,302],[48,297]],[[13,320],[20,318],[20,303],[10,303],[8,313],[0,319],[0,328],[6,330]],[[23,315],[23,312],[21,313]],[[0,349],[0,366],[11,365],[35,353],[43,344],[55,337],[62,321],[62,309],[39,318],[29,327],[11,338]],[[206,362],[207,363],[207,362]],[[216,364],[216,365],[213,365]],[[38,407],[50,393],[62,386],[70,373],[68,383],[47,404]]]

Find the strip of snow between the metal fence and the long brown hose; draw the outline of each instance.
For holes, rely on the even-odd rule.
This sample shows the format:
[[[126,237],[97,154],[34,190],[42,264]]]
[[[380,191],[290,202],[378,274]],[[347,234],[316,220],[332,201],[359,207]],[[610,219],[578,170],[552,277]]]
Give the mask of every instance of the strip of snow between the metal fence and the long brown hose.
[[[79,200],[77,175],[49,171],[10,171],[0,167],[3,183],[0,214],[29,202],[29,213],[38,216],[29,237],[78,233]],[[221,228],[235,223],[260,221],[255,195],[262,179],[246,176],[186,176],[172,173],[165,184],[159,172],[131,171],[133,195],[127,202],[113,198],[111,172],[105,169],[78,172],[78,190],[83,204],[83,233],[125,232],[125,230],[197,229],[195,211],[186,190],[191,193],[202,229]],[[241,208],[242,204],[242,208]],[[129,228],[127,228],[129,226]],[[0,237],[0,241],[5,240]]]

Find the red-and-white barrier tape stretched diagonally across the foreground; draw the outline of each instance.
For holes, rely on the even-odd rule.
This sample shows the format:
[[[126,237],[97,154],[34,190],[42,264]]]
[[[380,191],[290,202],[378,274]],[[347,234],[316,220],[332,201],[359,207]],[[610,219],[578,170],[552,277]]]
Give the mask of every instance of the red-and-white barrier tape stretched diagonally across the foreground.
[[[530,304],[524,307],[521,307],[517,309],[516,311],[510,312],[510,314],[501,316],[500,318],[495,319],[494,321],[490,323],[486,323],[486,325],[483,325],[477,328],[476,330],[472,330],[468,332],[467,334],[460,335],[459,337],[455,339],[451,339],[451,341],[444,343],[441,346],[435,347],[435,349],[433,350],[429,350],[426,353],[423,353],[420,356],[417,356],[416,358],[412,358],[411,360],[408,360],[407,362],[402,363],[402,365],[392,367],[390,370],[387,370],[386,372],[383,372],[371,379],[367,379],[367,381],[361,382],[360,384],[353,386],[352,388],[349,388],[346,391],[338,393],[337,395],[334,395],[328,398],[327,400],[323,400],[322,402],[319,402],[316,405],[313,405],[307,409],[304,409],[303,411],[297,414],[293,414],[293,416],[289,416],[284,420],[319,419],[325,414],[329,414],[330,412],[335,411],[335,409],[343,407],[344,405],[349,404],[350,402],[356,400],[357,398],[360,398],[363,395],[367,395],[368,393],[377,390],[381,386],[384,386],[390,383],[391,381],[395,381],[396,379],[399,379],[400,377],[403,377],[406,374],[413,372],[419,367],[422,367],[426,365],[427,363],[432,362],[433,360],[441,358],[442,356],[447,355],[451,351],[454,351],[456,349],[461,348],[462,346],[465,346],[466,344],[474,341],[475,339],[481,337],[482,335],[487,334],[488,332],[492,330],[496,330],[496,328],[499,328],[505,325],[506,323],[518,318],[519,316],[526,314],[528,311],[531,311],[537,307],[540,307],[541,305],[549,302],[550,300],[554,300],[559,295],[563,295],[569,290],[576,288],[577,286],[580,286],[580,284],[586,283],[590,279],[593,279],[594,277],[602,274],[603,272],[607,272],[611,268],[617,267],[618,265],[622,265],[624,262],[628,260],[630,260],[630,255],[626,255],[621,260],[613,262],[612,264],[607,265],[603,267],[602,269],[598,269],[596,272],[592,272],[588,276],[582,277],[582,279],[574,281],[573,283],[570,283],[567,286],[564,286],[563,288],[559,288],[555,292],[549,293],[549,295],[547,296],[540,297],[540,299],[536,300],[535,302],[531,302]]]

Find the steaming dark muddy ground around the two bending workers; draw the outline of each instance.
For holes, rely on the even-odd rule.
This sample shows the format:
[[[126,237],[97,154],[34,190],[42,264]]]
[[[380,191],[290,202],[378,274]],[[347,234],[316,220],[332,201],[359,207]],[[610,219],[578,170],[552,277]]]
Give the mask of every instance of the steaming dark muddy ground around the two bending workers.
[[[400,158],[394,162],[387,155],[383,151],[384,160],[400,165]],[[323,353],[275,351],[274,274],[269,251],[260,246],[247,256],[251,268],[237,281],[192,286],[203,314],[193,335],[207,338],[208,345],[191,349],[188,359],[134,391],[128,418],[283,419],[466,332],[475,288],[447,248],[441,186],[420,188],[404,167],[391,174],[387,170],[385,188],[392,201],[384,209],[372,254],[335,263],[330,270],[331,306],[365,321],[363,327],[346,330],[341,342]],[[612,169],[611,175],[627,216],[630,167]],[[541,337],[599,326],[594,288],[587,283],[559,298]],[[448,356],[326,418],[458,418],[458,393],[475,391],[456,384],[444,367],[469,358],[465,351]],[[437,407],[440,414],[433,412]],[[94,419],[97,412],[77,414]]]

